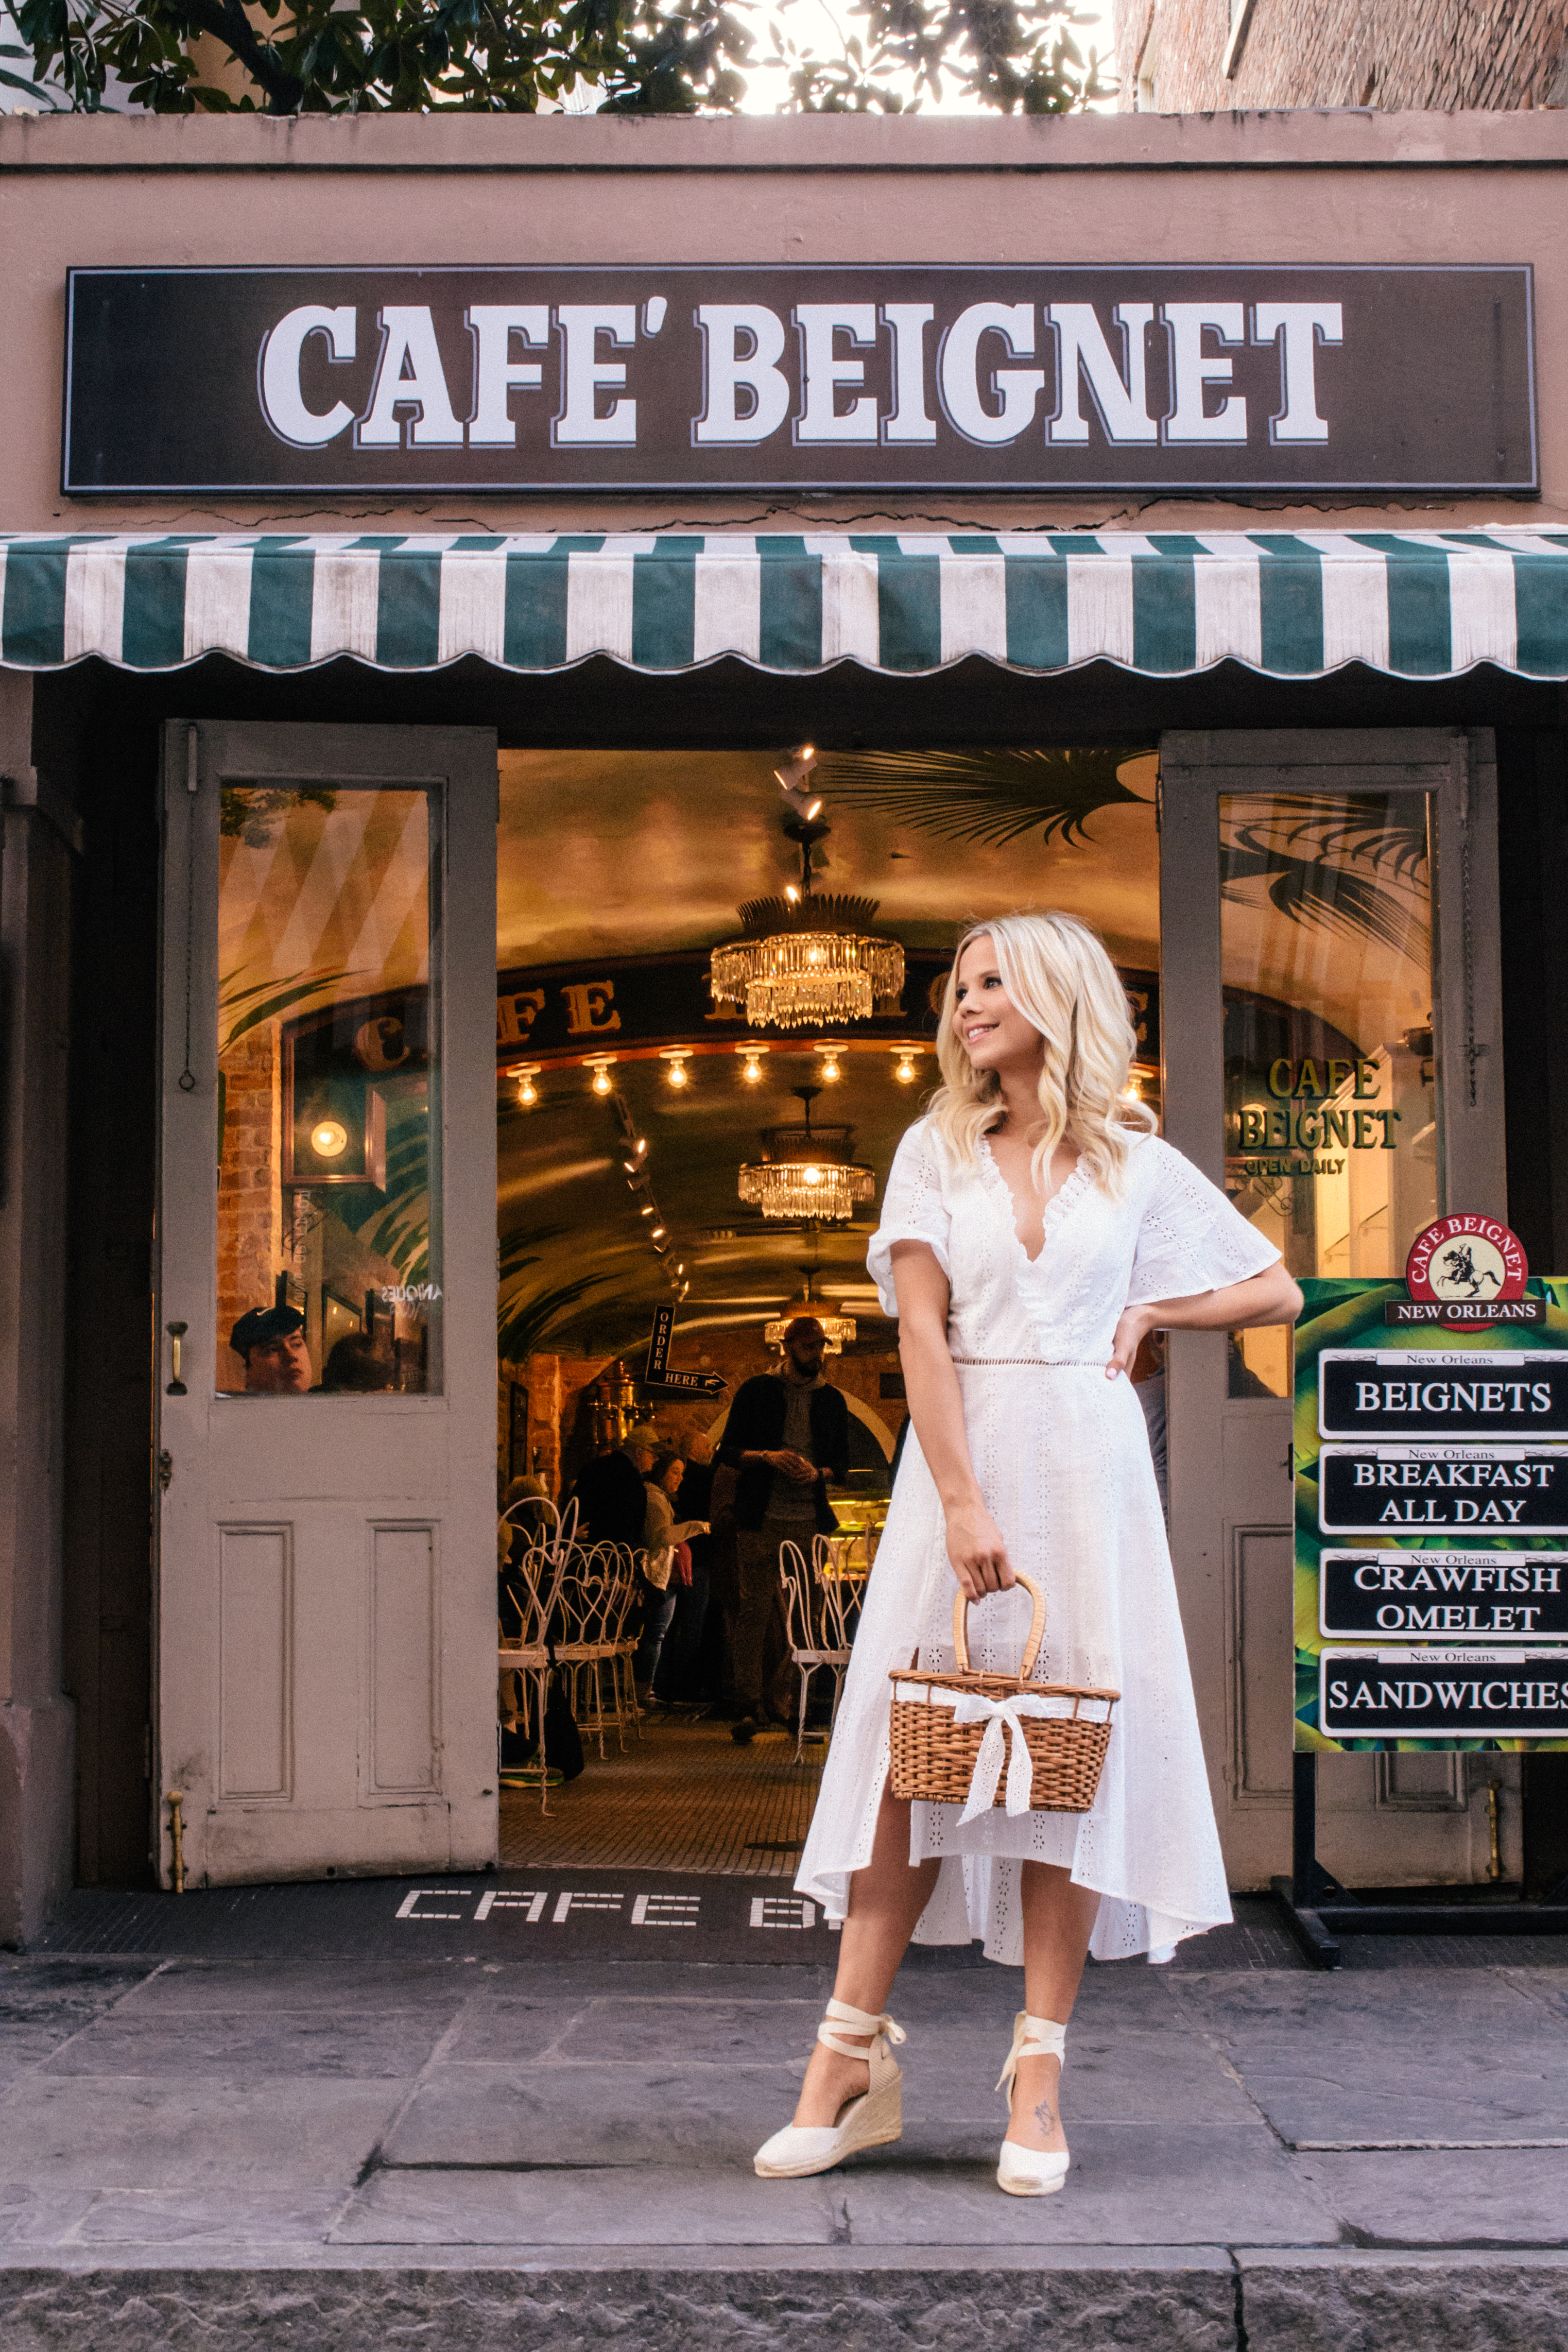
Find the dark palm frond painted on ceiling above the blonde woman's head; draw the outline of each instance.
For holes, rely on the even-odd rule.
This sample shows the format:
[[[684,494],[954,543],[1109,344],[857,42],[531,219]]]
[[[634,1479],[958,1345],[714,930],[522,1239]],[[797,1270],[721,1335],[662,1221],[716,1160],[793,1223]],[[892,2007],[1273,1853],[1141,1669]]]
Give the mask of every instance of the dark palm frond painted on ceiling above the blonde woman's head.
[[[1143,755],[1152,746],[1143,748]],[[1041,842],[1074,847],[1088,818],[1119,802],[1145,802],[1117,769],[1138,746],[1060,750],[853,750],[823,753],[816,786],[842,807],[877,809],[912,833],[943,842]]]

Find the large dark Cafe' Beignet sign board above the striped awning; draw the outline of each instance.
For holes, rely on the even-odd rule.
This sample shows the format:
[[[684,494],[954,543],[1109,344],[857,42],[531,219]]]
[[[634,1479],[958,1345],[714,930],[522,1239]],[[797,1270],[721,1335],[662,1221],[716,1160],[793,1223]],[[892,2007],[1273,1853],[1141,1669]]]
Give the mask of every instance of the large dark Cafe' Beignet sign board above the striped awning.
[[[80,268],[66,492],[1537,482],[1530,270]]]

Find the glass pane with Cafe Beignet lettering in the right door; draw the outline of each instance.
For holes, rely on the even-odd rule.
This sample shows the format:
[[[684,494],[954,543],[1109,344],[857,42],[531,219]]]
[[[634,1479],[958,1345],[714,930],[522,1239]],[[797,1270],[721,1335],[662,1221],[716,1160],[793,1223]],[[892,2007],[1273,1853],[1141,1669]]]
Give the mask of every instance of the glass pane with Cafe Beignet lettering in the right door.
[[[1293,1275],[1396,1277],[1439,1211],[1429,804],[1220,800],[1225,1188]],[[1232,1395],[1284,1395],[1284,1334]]]

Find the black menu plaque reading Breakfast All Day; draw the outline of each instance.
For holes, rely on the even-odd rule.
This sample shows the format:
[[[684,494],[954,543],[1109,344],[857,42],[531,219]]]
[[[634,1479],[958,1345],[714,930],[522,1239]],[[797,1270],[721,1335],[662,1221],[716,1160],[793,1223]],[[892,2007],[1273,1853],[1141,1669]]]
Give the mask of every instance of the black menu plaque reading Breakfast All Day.
[[[1568,1536],[1568,1451],[1324,1446],[1326,1536]]]

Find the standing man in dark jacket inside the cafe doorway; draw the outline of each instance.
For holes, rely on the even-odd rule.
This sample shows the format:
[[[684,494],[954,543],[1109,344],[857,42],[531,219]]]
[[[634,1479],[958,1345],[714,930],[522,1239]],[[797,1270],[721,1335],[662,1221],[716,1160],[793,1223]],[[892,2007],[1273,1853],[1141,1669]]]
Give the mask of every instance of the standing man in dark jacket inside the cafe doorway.
[[[783,1364],[745,1381],[724,1425],[719,1461],[738,1472],[733,1656],[736,1696],[745,1708],[731,1729],[733,1740],[750,1740],[766,1722],[790,1719],[792,1668],[783,1637],[778,1545],[795,1541],[811,1555],[811,1538],[837,1526],[827,1484],[849,1479],[849,1406],[823,1378],[823,1348],[820,1322],[797,1315],[785,1329]],[[778,1653],[771,1677],[769,1646]]]

